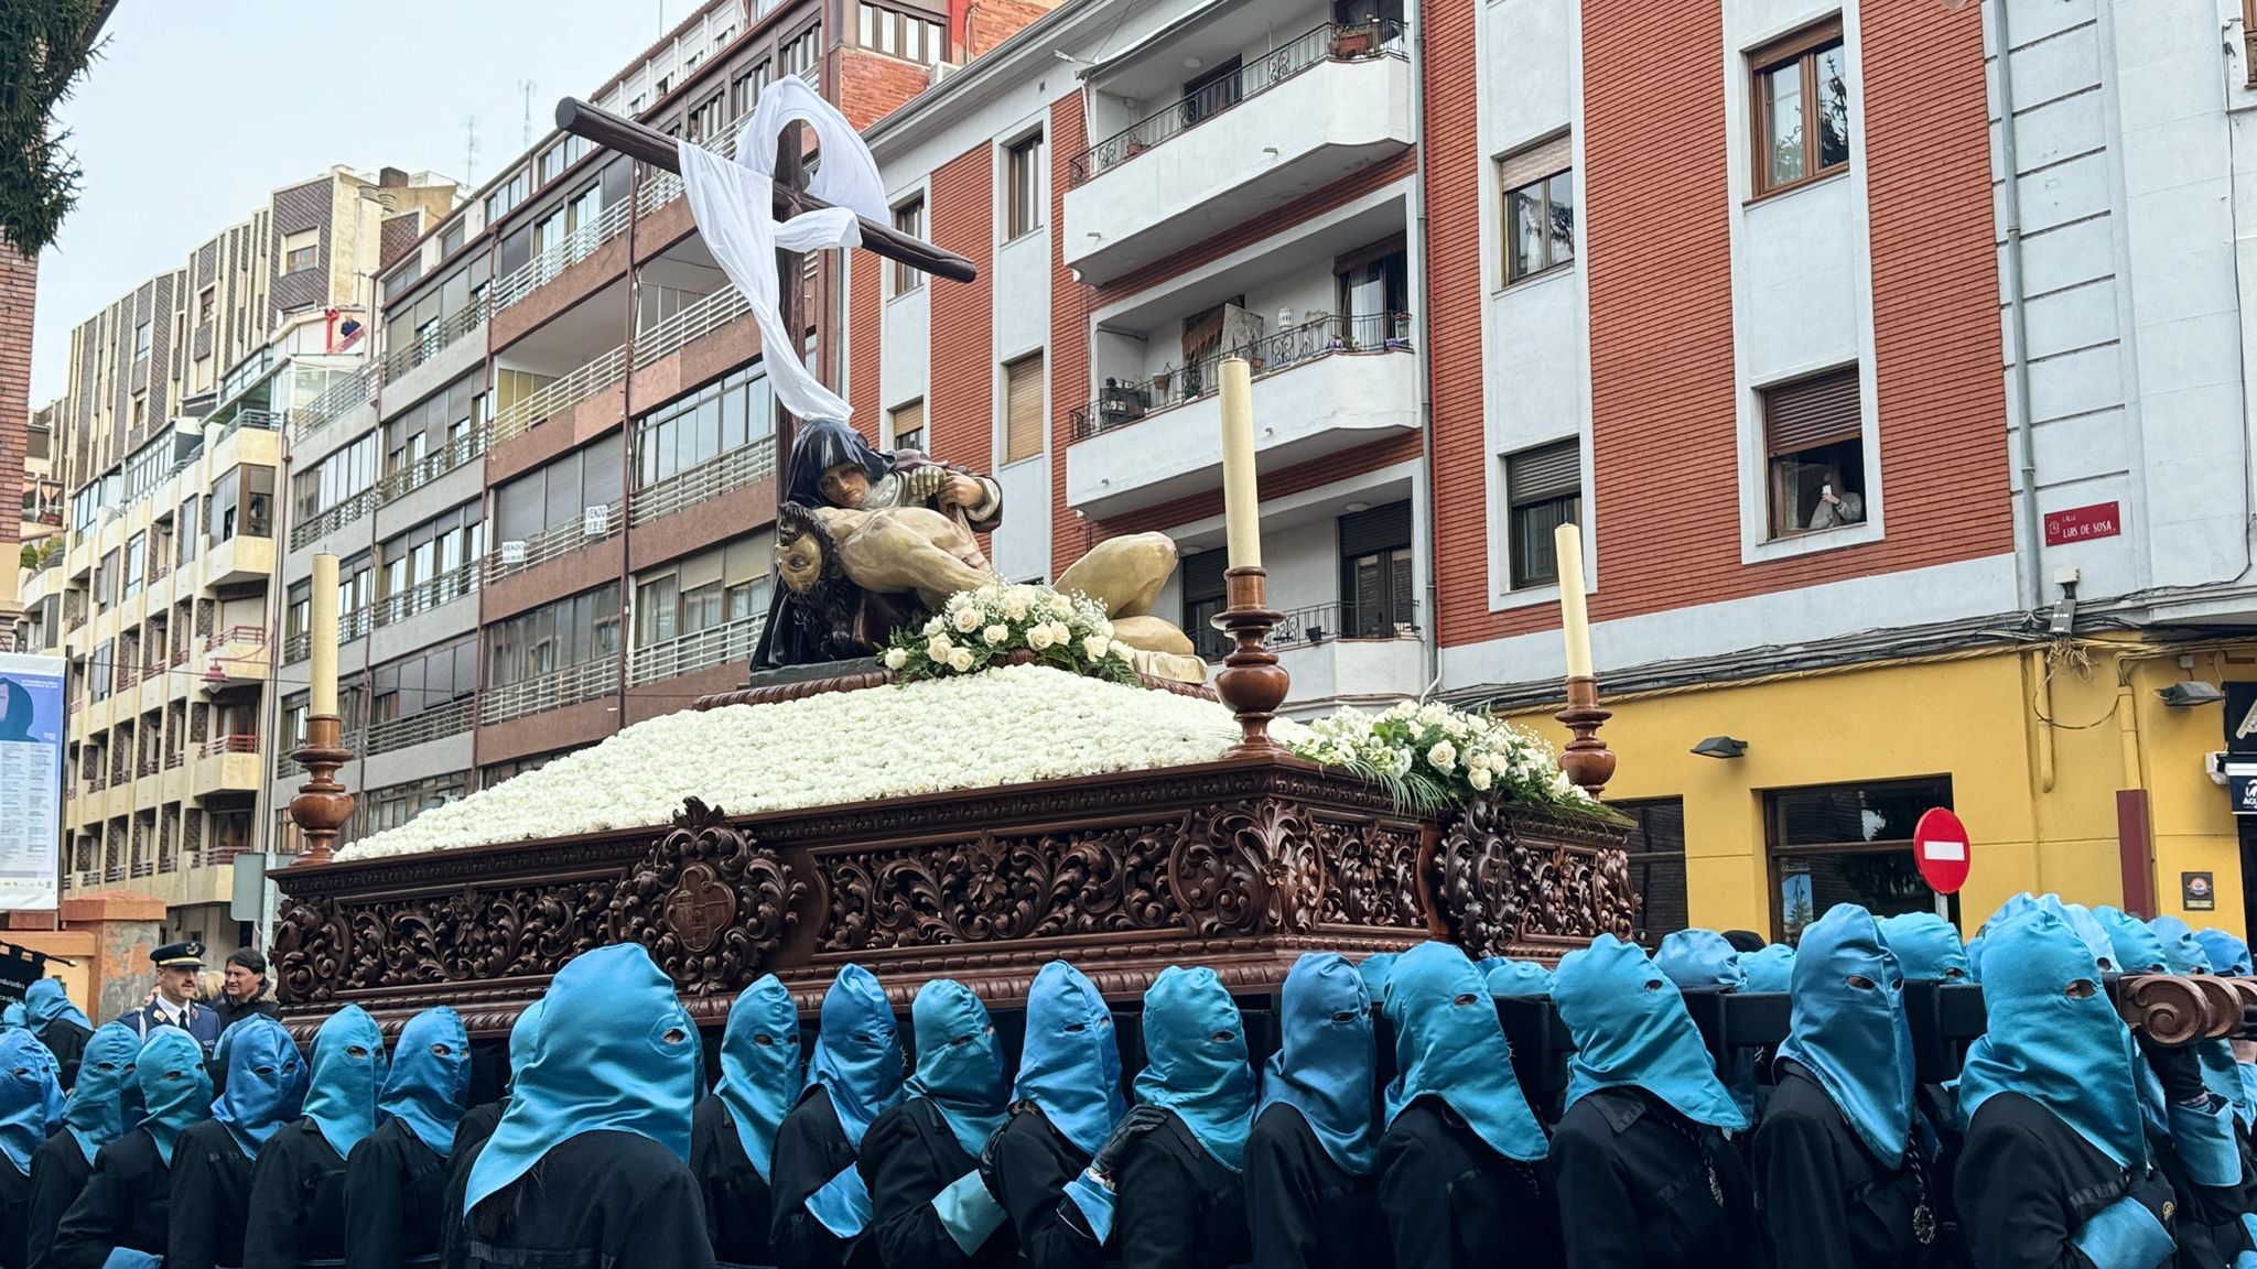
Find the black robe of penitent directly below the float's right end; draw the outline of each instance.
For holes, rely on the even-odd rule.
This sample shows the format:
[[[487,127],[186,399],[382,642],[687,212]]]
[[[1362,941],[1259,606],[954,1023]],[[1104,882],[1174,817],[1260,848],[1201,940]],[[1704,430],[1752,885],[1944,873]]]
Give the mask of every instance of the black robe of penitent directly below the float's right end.
[[[1740,1152],[1643,1088],[1578,1097],[1551,1161],[1569,1269],[1751,1264],[1763,1244]]]

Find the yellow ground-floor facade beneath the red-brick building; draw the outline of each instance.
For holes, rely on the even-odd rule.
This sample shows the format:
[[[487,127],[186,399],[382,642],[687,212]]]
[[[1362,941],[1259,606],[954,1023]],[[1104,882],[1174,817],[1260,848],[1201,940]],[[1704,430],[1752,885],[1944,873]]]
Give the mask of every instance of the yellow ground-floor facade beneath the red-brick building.
[[[1686,924],[1783,937],[1810,896],[1790,881],[1806,865],[1821,901],[1844,854],[1869,883],[1882,872],[1900,883],[1909,815],[1925,804],[1948,804],[1968,829],[1966,933],[2022,890],[2122,905],[2119,822],[2137,835],[2142,815],[2119,790],[2140,790],[2146,847],[2133,854],[2146,856],[2153,910],[2243,933],[2239,833],[2210,777],[2223,707],[2158,695],[2187,680],[2257,680],[2257,641],[2074,639],[1625,695],[1607,700],[1600,732],[1621,759],[1607,799],[1666,808],[1668,835],[1681,806]],[[1564,738],[1546,709],[1514,720]],[[1709,736],[1747,750],[1695,754]],[[1812,835],[1812,806],[1846,811],[1833,833],[1797,840]]]

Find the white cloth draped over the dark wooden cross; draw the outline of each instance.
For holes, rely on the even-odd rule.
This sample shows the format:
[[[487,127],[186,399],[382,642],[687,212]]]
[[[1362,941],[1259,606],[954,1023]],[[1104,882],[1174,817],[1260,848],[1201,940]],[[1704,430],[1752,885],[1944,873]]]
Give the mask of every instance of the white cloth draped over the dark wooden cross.
[[[792,122],[815,129],[822,167],[808,194],[831,203],[819,212],[776,219],[776,138]],[[736,135],[736,160],[682,142],[682,185],[688,190],[697,233],[736,282],[752,321],[761,327],[767,382],[783,409],[799,418],[846,420],[851,406],[799,361],[799,336],[783,321],[783,287],[776,251],[822,251],[862,244],[858,217],[885,224],[885,185],[878,160],[846,115],[837,113],[799,77],[785,77],[761,93],[752,120]]]

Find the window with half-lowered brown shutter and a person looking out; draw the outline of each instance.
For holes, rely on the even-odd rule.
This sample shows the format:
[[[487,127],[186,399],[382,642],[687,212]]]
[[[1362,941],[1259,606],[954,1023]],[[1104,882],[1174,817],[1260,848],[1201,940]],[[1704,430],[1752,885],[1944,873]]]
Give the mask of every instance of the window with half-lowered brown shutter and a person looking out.
[[[1858,368],[1763,391],[1772,537],[1864,519],[1864,429]]]

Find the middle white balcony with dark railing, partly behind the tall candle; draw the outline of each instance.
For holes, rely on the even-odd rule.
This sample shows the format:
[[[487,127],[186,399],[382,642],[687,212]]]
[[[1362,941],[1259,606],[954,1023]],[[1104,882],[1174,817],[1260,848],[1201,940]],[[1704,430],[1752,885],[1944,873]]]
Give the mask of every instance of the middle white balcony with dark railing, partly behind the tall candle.
[[[1255,366],[1255,465],[1280,472],[1417,429],[1417,359],[1404,314],[1323,318],[1237,355]],[[1221,483],[1221,357],[1140,384],[1110,382],[1072,411],[1065,504],[1108,517]]]

